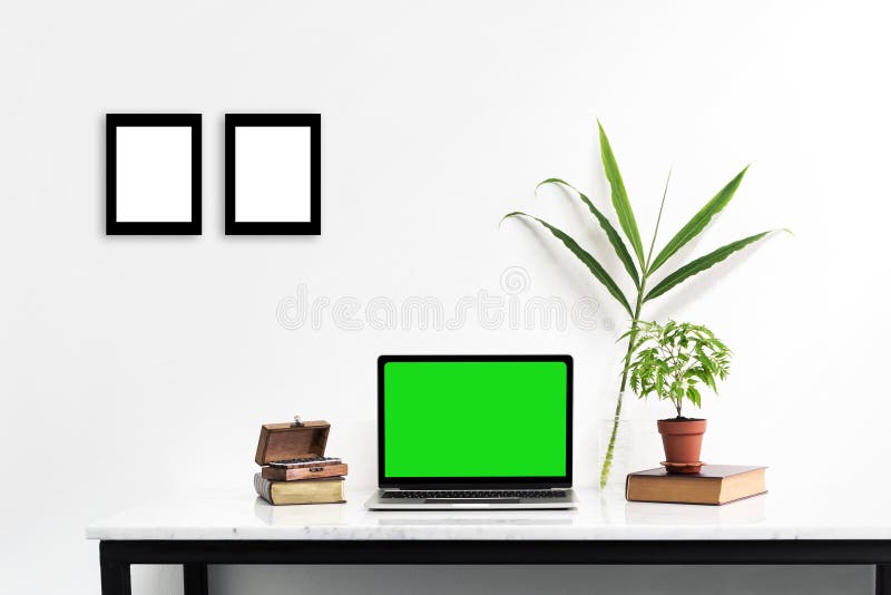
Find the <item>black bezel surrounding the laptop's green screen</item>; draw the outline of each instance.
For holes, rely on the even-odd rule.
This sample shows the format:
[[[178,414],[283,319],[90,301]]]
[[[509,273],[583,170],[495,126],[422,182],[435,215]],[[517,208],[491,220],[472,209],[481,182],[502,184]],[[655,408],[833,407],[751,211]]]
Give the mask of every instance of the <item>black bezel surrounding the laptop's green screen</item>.
[[[384,368],[391,362],[560,362],[566,365],[566,467],[561,476],[535,477],[395,477],[385,472]],[[572,357],[569,354],[501,355],[379,355],[378,357],[378,486],[381,488],[437,489],[545,489],[572,487]]]

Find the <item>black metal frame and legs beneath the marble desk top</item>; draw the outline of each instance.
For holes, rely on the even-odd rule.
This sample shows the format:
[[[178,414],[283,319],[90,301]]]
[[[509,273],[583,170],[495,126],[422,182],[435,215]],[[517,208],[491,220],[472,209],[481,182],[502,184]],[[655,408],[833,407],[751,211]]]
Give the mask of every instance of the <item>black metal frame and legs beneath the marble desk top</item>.
[[[670,547],[666,547],[670,544]],[[182,564],[207,595],[210,564],[849,564],[875,566],[891,595],[891,540],[102,540],[102,595],[130,595],[134,564]]]

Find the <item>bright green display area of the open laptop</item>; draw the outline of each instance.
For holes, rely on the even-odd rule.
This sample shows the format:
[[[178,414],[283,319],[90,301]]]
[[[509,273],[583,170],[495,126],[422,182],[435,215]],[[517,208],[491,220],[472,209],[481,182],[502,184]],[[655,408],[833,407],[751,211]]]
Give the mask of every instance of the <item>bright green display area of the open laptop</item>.
[[[566,476],[559,361],[384,364],[385,477]]]

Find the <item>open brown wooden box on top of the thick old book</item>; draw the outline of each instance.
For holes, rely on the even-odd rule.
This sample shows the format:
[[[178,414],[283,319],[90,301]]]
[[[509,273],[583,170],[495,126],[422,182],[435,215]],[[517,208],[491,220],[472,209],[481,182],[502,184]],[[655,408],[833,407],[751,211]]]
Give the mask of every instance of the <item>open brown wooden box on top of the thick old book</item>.
[[[268,467],[271,462],[291,459],[324,457],[331,423],[304,421],[302,423],[266,423],[260,429],[257,453],[254,460],[263,467],[262,475],[273,481],[316,479],[346,475],[346,464],[325,464],[301,468]]]

